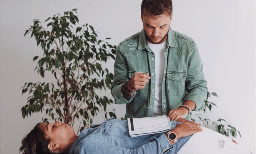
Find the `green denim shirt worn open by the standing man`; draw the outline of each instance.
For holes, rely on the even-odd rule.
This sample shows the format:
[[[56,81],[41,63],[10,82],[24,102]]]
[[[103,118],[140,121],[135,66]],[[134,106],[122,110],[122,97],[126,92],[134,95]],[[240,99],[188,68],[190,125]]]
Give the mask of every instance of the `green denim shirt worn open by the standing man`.
[[[150,50],[144,29],[119,43],[114,63],[111,93],[116,104],[126,104],[125,119],[151,117],[154,108],[155,55]],[[134,91],[126,100],[121,88],[134,73],[149,73],[151,79],[143,89]],[[163,114],[177,109],[187,100],[194,101],[194,111],[205,108],[207,81],[197,45],[192,38],[171,28],[164,50],[164,78],[162,83]],[[191,120],[190,114],[186,119]]]

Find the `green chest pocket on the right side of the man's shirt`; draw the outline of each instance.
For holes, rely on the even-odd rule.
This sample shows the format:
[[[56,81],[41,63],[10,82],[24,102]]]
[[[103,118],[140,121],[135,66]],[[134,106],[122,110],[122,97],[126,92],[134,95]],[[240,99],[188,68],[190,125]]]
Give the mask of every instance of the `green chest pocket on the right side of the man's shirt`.
[[[179,96],[185,90],[187,71],[172,71],[166,74],[169,94]]]

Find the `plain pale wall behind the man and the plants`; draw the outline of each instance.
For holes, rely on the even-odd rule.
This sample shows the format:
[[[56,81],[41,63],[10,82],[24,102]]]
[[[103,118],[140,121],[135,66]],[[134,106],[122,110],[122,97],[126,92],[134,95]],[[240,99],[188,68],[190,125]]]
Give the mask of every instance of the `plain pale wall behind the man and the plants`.
[[[79,24],[92,25],[99,38],[118,45],[142,29],[141,0],[1,0],[1,153],[18,153],[21,140],[45,114],[25,120],[21,107],[27,102],[21,87],[25,82],[54,81],[41,78],[34,56],[41,55],[34,38],[24,37],[34,19],[44,22],[54,14],[78,9]],[[195,39],[204,65],[205,78],[217,104],[207,118],[223,118],[241,132],[236,140],[255,153],[255,1],[173,0],[175,31]],[[112,73],[114,61],[106,66]],[[102,92],[110,96],[110,92]],[[110,96],[112,97],[112,96]],[[115,105],[124,117],[125,105]],[[102,122],[101,116],[95,123]],[[224,123],[225,124],[225,123]]]

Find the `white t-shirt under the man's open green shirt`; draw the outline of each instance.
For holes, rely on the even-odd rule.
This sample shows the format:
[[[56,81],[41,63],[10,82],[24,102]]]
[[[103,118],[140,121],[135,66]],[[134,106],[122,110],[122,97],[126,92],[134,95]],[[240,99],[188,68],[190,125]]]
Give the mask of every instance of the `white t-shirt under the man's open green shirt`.
[[[167,40],[161,44],[152,44],[147,42],[149,48],[154,52],[155,55],[155,100],[153,116],[162,116],[162,83],[164,78],[164,49],[167,46]]]

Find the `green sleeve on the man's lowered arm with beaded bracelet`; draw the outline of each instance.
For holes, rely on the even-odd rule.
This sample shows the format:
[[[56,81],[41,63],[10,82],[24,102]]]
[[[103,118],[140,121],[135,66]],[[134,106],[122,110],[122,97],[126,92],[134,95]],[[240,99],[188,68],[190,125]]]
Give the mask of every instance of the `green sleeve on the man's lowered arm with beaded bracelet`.
[[[196,108],[194,111],[201,111],[205,108],[205,98],[207,95],[207,81],[204,77],[203,64],[200,58],[197,45],[195,43],[189,58],[186,77],[187,95],[183,102],[187,100],[194,101]]]

